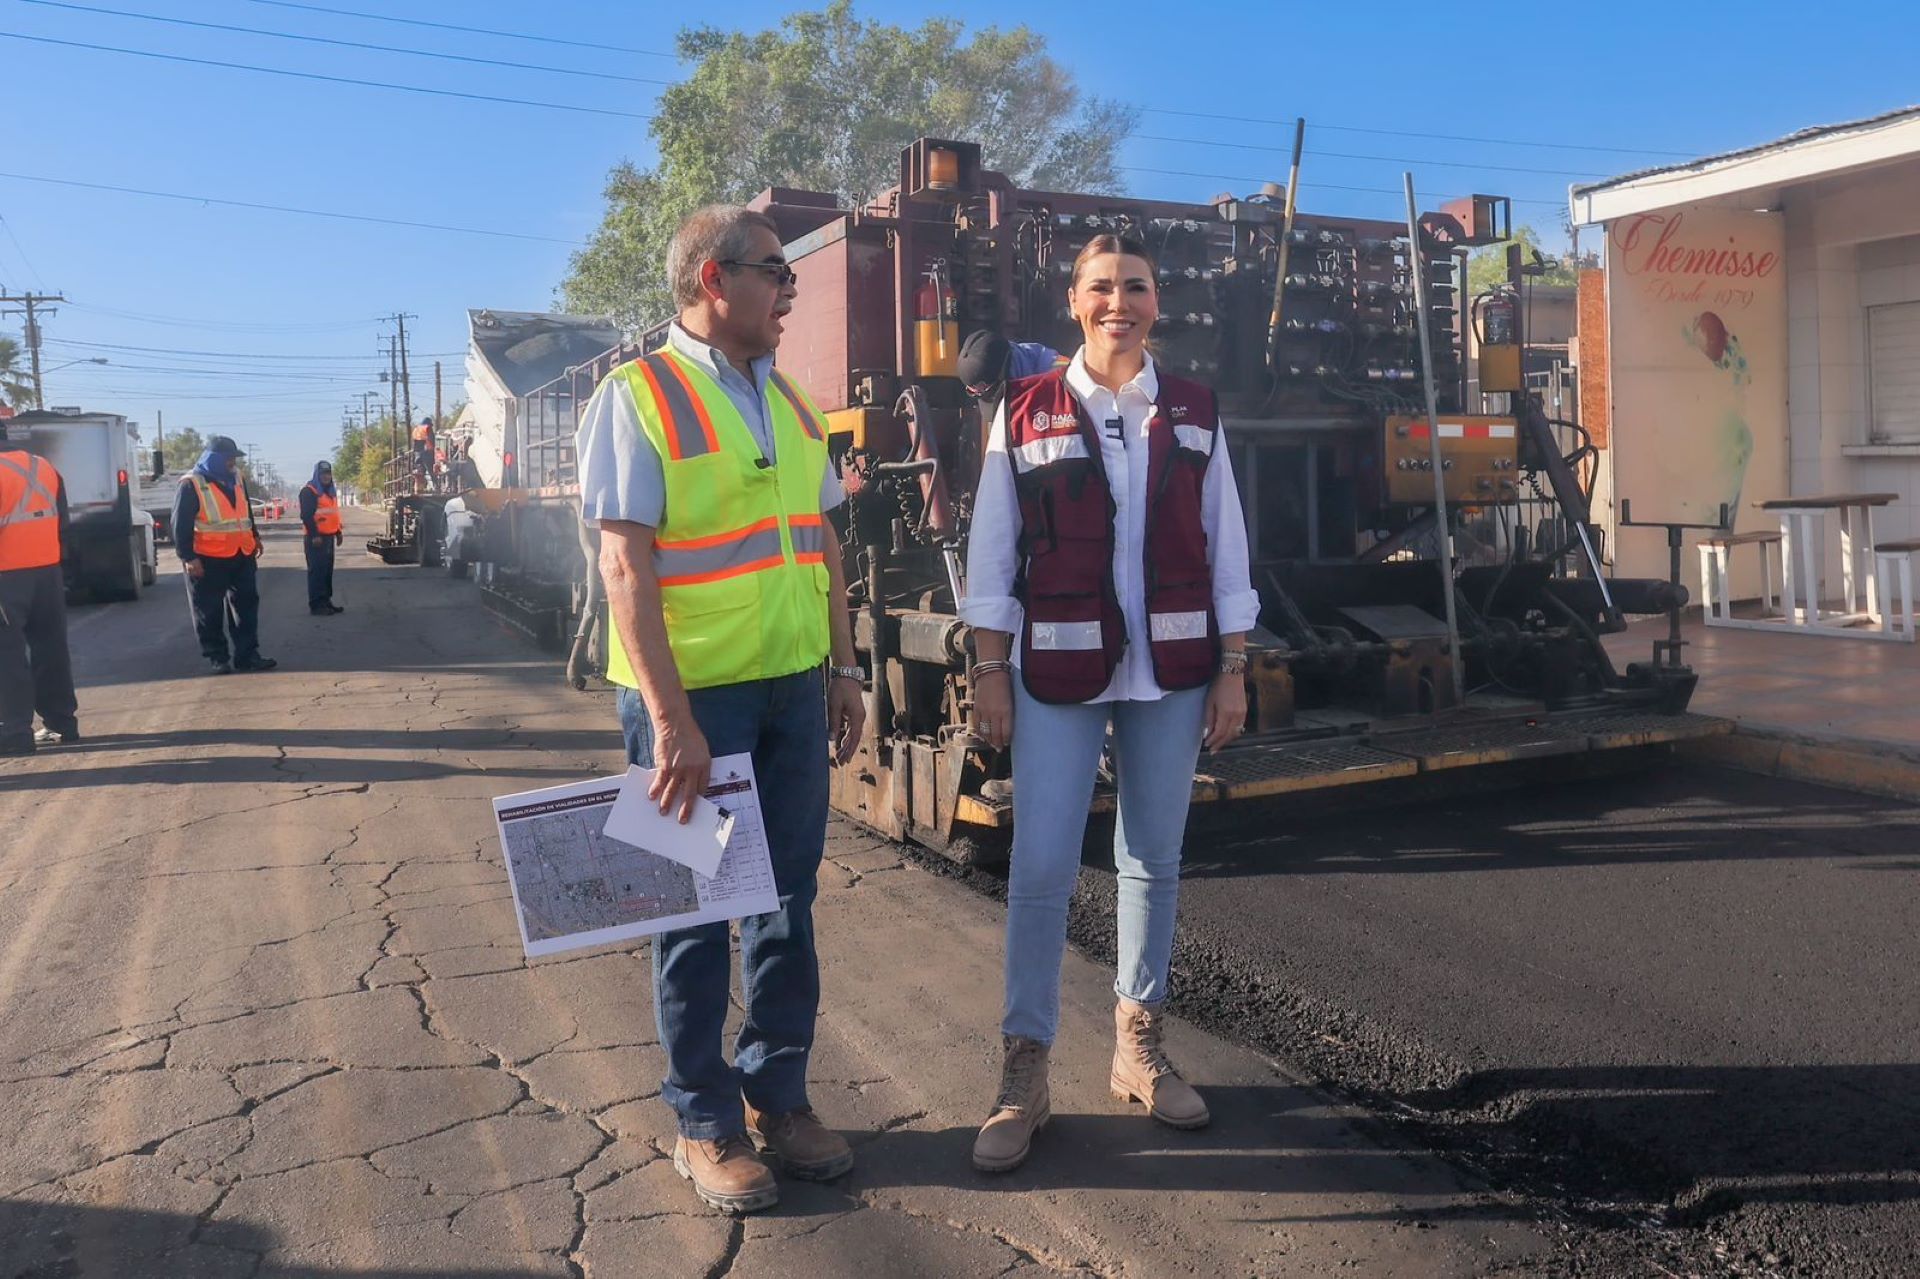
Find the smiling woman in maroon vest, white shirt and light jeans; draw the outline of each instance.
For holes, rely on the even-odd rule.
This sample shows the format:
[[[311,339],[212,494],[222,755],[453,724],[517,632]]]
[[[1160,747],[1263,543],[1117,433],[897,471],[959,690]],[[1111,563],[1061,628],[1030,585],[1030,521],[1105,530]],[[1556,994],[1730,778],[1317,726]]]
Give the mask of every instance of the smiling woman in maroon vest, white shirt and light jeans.
[[[1154,263],[1094,236],[1068,294],[1085,346],[995,417],[968,549],[973,732],[1014,745],[1000,1093],[973,1166],[1018,1168],[1048,1120],[1068,899],[1112,728],[1119,818],[1114,1095],[1173,1127],[1206,1102],[1160,1047],[1181,835],[1202,743],[1246,722],[1246,524],[1213,394],[1154,369]]]

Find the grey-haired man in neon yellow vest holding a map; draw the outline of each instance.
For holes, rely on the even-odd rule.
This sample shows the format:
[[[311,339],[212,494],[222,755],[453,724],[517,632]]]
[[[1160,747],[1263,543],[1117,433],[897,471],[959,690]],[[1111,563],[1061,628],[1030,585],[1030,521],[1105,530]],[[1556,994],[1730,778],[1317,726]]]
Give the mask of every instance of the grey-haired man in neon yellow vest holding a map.
[[[651,797],[687,820],[720,755],[751,755],[760,787],[780,910],[739,922],[747,1008],[732,1066],[728,926],[653,941],[674,1168],[714,1208],[753,1212],[780,1196],[755,1146],[793,1177],[852,1168],[806,1100],[806,1058],[822,745],[852,759],[866,674],[824,519],[843,499],[826,419],[774,369],[795,298],[780,234],[760,213],[708,205],[674,236],[668,277],[680,319],[664,350],[609,374],[582,415],[580,497],[601,530],[607,678],[628,759],[657,770]]]

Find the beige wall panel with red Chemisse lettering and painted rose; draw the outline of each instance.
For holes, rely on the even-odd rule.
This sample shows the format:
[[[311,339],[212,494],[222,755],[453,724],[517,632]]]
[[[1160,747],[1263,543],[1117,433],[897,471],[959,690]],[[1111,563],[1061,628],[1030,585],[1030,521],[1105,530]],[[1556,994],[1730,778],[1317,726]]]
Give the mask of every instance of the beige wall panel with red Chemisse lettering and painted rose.
[[[1692,205],[1607,225],[1615,499],[1644,520],[1709,524],[1726,505],[1736,528],[1766,526],[1751,503],[1788,474],[1786,323],[1778,213]],[[1617,542],[1622,574],[1665,561],[1657,538]]]

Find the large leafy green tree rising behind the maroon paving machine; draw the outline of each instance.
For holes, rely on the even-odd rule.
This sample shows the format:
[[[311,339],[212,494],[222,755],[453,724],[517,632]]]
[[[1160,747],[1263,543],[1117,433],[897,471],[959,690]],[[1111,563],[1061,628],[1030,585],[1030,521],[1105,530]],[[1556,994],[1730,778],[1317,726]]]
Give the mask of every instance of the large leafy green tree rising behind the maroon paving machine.
[[[678,48],[693,75],[660,94],[660,163],[607,175],[607,211],[559,288],[568,311],[634,328],[668,315],[666,242],[703,204],[797,186],[856,207],[899,181],[920,136],[979,142],[987,167],[1023,186],[1116,190],[1139,121],[1083,96],[1027,27],[935,17],[908,31],[833,0],[776,31],[682,31]]]

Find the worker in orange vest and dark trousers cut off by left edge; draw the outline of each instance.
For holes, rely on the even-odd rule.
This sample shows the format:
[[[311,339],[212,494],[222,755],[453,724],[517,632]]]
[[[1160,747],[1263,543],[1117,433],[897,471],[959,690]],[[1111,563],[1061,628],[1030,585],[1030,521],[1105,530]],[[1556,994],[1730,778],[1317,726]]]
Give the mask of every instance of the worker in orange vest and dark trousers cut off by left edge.
[[[81,739],[67,657],[67,490],[54,463],[0,451],[0,755]]]

